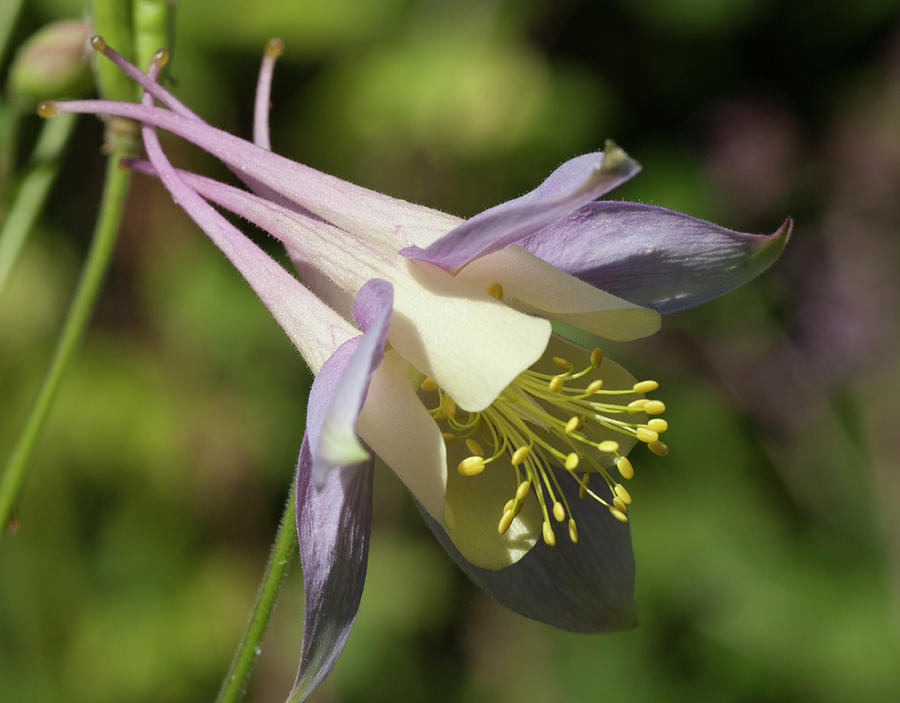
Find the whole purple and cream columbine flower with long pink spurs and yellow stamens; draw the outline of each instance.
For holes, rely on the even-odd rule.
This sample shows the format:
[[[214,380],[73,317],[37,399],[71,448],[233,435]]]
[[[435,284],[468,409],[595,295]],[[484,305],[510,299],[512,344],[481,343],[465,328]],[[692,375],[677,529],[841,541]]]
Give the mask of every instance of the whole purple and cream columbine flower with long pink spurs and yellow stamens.
[[[297,695],[334,666],[368,556],[372,458],[404,481],[466,573],[508,607],[557,627],[634,624],[627,454],[665,455],[655,381],[636,381],[561,328],[629,340],[767,268],[790,234],[726,230],[638,203],[598,201],[638,165],[607,143],[530,193],[462,221],[360,188],[269,150],[270,43],[254,142],[207,125],[156,78],[92,40],[145,89],[142,104],[44,103],[39,112],[141,123],[148,161],[234,263],[316,378],[297,472],[306,591]],[[154,98],[164,105],[154,107]],[[155,129],[220,158],[252,192],[178,171]],[[287,247],[306,286],[210,203]],[[619,297],[621,296],[621,297]],[[449,467],[449,468],[448,468]],[[588,499],[589,497],[589,499]]]

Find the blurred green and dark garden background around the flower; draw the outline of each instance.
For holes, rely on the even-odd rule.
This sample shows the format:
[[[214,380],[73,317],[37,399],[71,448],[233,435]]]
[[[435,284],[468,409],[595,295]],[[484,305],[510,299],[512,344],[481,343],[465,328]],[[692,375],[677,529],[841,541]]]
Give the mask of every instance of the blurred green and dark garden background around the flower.
[[[615,138],[614,195],[794,239],[752,285],[609,353],[663,384],[667,458],[633,455],[640,626],[571,635],[491,601],[387,470],[326,701],[900,700],[900,2],[183,0],[175,92],[250,134],[265,42],[276,151],[461,216]],[[12,44],[83,15],[30,0]],[[0,78],[8,71],[8,61]],[[0,125],[2,126],[2,125]],[[38,129],[21,126],[15,166]],[[93,227],[80,121],[0,297],[0,454]],[[228,178],[168,139],[179,164]],[[4,174],[2,207],[15,182]],[[253,233],[273,254],[278,248]],[[135,178],[87,339],[0,541],[0,701],[211,700],[291,481],[310,382],[265,308]],[[298,659],[292,569],[248,700]]]

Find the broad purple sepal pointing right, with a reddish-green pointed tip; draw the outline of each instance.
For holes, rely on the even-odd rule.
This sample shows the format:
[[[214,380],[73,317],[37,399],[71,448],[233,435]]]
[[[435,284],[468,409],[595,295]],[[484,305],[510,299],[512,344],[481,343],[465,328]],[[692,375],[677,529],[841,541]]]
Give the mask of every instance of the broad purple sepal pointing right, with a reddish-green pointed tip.
[[[592,286],[669,313],[758,276],[792,226],[788,218],[772,235],[744,234],[654,205],[601,201],[521,244]]]

